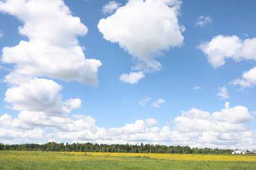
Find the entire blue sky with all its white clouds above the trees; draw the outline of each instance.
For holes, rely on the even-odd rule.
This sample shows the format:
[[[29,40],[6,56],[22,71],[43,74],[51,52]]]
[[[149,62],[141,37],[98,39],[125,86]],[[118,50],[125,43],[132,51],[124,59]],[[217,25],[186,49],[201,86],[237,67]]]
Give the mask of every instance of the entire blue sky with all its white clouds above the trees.
[[[256,147],[254,1],[0,1],[0,142]]]

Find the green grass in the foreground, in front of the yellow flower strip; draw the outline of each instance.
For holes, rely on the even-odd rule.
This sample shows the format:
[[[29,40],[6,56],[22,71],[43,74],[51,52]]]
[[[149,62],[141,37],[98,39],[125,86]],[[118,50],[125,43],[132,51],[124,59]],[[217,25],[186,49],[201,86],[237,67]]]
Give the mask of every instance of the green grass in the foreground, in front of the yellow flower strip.
[[[0,169],[256,169],[256,161],[188,161],[147,159],[142,156],[106,157],[55,152],[0,151]]]

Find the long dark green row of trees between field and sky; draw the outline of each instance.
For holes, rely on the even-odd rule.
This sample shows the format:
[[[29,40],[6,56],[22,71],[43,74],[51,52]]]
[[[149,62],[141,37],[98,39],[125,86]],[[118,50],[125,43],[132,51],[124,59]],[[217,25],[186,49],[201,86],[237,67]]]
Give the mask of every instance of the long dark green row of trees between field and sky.
[[[0,143],[0,150],[16,151],[75,151],[75,152],[130,152],[130,153],[156,153],[156,154],[230,154],[233,150],[222,150],[218,148],[190,148],[189,146],[165,146],[165,145],[106,145],[92,143],[56,143],[46,144],[22,144],[22,145],[3,145]]]

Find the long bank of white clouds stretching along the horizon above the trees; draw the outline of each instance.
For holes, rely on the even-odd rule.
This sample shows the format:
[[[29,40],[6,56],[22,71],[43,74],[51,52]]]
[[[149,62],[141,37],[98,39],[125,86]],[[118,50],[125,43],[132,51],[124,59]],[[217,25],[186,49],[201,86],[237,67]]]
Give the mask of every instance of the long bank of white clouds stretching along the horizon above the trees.
[[[168,126],[159,128],[158,121],[154,118],[137,120],[133,124],[119,128],[105,129],[96,126],[96,121],[90,116],[76,115],[76,117],[77,120],[72,120],[65,116],[63,118],[47,116],[43,112],[20,112],[18,118],[11,118],[9,114],[4,114],[0,117],[0,139],[5,143],[36,142],[44,138],[54,138],[81,143],[85,141],[123,144],[150,142],[233,149],[248,146],[251,147],[249,149],[253,149],[256,146],[255,131],[250,131],[244,124],[253,121],[254,117],[246,107],[230,108],[229,103],[225,104],[225,109],[212,114],[195,108],[181,112],[181,116],[171,121],[175,125],[173,129]],[[51,128],[53,132],[46,133],[44,128],[39,127]],[[3,138],[6,136],[9,138]]]

